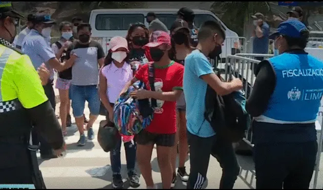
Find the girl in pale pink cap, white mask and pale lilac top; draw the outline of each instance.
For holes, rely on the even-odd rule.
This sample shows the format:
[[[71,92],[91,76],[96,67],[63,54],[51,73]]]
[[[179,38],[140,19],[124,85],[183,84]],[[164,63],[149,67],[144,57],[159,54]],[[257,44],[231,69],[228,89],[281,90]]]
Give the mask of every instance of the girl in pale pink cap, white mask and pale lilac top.
[[[100,98],[102,104],[107,110],[108,123],[114,127],[113,123],[113,106],[119,97],[121,90],[126,83],[133,78],[133,71],[131,65],[128,64],[128,43],[123,37],[116,36],[110,41],[110,50],[105,57],[105,66],[99,73],[100,83]],[[121,158],[120,150],[121,143],[124,142],[124,149],[127,160],[128,177],[130,179],[130,186],[136,188],[139,187],[139,176],[135,171],[136,163],[136,143],[134,140],[125,140],[127,138],[121,138],[117,142],[114,150],[110,152],[111,167],[113,172],[114,188],[123,188],[123,181],[120,174],[121,170]]]

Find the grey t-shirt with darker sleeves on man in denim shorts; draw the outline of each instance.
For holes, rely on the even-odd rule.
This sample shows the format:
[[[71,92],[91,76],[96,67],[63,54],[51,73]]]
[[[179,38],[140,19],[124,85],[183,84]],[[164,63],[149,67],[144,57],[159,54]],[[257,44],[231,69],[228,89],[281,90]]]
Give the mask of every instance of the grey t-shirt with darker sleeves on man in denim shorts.
[[[75,40],[67,50],[67,59],[70,53],[75,53],[78,58],[72,66],[72,85],[89,86],[99,83],[98,59],[104,57],[102,46],[91,40],[90,44],[83,45]]]

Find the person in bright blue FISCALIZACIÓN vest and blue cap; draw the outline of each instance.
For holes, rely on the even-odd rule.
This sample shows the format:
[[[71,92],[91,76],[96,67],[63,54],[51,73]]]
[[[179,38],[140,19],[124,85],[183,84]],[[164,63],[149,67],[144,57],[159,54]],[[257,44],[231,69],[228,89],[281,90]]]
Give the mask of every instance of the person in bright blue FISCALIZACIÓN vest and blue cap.
[[[260,62],[246,103],[254,117],[256,188],[308,189],[323,63],[304,51],[309,31],[299,20],[288,19],[272,35],[279,55]]]

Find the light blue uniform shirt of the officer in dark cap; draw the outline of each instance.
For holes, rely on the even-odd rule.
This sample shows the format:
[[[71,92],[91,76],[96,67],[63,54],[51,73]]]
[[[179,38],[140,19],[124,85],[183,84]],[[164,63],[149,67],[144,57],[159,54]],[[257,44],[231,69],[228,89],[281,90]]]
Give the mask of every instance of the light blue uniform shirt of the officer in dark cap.
[[[42,63],[44,63],[50,71],[50,80],[54,79],[54,70],[50,67],[48,61],[56,56],[44,36],[42,36],[38,31],[32,29],[25,37],[21,51],[30,57],[36,70]]]

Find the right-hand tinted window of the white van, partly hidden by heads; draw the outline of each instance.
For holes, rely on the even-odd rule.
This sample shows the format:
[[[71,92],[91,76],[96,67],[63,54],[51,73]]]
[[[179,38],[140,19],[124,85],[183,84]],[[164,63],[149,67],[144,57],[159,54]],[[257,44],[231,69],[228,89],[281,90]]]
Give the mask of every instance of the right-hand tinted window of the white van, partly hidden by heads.
[[[168,30],[170,29],[171,25],[174,23],[174,21],[177,18],[176,14],[156,14],[157,18],[160,19],[162,23],[166,25]],[[209,14],[196,14],[194,18],[194,24],[196,27],[200,28],[200,26],[206,21],[206,20],[217,20],[212,15]],[[223,27],[223,25],[222,25]],[[225,28],[223,27],[225,30]]]

